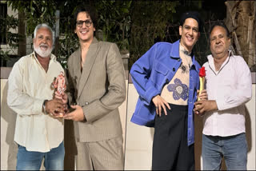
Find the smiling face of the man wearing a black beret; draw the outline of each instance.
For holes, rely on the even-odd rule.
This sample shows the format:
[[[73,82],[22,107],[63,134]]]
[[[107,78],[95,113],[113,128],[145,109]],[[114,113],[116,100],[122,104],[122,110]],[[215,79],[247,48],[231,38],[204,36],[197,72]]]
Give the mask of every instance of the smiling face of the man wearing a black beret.
[[[198,22],[194,18],[186,18],[183,26],[179,26],[181,44],[189,52],[192,51],[194,44],[198,41],[200,35],[198,30]]]

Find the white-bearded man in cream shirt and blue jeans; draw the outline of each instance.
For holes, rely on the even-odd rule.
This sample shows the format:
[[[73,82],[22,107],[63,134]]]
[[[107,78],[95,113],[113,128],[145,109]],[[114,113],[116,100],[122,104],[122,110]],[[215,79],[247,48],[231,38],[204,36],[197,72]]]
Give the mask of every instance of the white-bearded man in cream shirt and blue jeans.
[[[34,30],[34,52],[14,64],[8,79],[7,104],[17,113],[14,141],[18,145],[17,170],[39,170],[45,159],[46,170],[63,170],[64,121],[66,104],[53,99],[54,78],[64,72],[51,54],[54,34],[50,26]]]

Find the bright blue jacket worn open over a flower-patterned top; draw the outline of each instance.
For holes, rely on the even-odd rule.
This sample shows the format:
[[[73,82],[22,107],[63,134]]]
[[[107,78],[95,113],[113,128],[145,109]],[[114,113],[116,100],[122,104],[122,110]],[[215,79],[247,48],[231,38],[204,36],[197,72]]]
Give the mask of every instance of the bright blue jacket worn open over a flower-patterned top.
[[[174,43],[158,42],[143,54],[130,70],[130,75],[139,97],[131,121],[138,125],[154,126],[155,106],[152,97],[160,94],[181,65],[179,40]],[[192,57],[188,99],[187,144],[194,143],[194,102],[199,88],[198,62]]]

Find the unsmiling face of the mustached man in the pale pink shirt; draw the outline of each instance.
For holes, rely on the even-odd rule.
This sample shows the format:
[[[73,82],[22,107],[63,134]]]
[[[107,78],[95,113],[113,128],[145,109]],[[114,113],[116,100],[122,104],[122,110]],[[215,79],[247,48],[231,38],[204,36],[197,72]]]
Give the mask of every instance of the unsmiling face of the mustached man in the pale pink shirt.
[[[222,58],[228,54],[230,38],[222,26],[215,26],[210,33],[210,51],[214,58]]]

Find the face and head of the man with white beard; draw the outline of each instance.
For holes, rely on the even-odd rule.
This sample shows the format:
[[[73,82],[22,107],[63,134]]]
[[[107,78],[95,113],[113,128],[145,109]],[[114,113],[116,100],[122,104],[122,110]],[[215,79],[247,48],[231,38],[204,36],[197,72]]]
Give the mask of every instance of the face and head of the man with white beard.
[[[50,30],[46,27],[38,29],[36,37],[33,40],[34,51],[42,58],[50,56],[53,50],[53,37]]]

